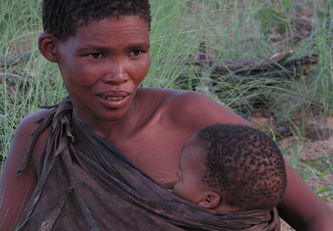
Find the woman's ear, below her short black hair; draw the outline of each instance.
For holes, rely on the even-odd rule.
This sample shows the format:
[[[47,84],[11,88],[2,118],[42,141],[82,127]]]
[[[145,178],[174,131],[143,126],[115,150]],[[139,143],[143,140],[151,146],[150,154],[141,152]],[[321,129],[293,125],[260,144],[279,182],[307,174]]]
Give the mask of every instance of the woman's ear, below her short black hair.
[[[47,32],[43,32],[38,39],[40,53],[51,62],[58,62],[56,53],[56,39]]]

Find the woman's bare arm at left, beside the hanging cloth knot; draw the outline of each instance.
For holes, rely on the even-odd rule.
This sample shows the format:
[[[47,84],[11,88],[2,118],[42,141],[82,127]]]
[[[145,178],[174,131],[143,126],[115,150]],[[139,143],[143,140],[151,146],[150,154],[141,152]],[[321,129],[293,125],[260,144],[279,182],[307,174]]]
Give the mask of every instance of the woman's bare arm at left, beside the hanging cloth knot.
[[[18,177],[16,170],[25,154],[30,134],[37,125],[35,121],[43,114],[44,111],[40,111],[25,117],[15,131],[0,177],[0,230],[14,230],[36,187],[37,177],[33,158]],[[33,153],[34,151],[36,149]]]

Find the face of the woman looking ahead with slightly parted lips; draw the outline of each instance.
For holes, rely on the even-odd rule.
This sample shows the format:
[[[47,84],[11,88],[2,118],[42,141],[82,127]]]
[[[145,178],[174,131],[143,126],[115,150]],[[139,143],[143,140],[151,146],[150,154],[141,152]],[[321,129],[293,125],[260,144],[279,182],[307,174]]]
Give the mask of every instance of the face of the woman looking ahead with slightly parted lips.
[[[127,112],[149,69],[148,23],[111,17],[57,41],[57,61],[74,109],[86,124],[117,120]]]

